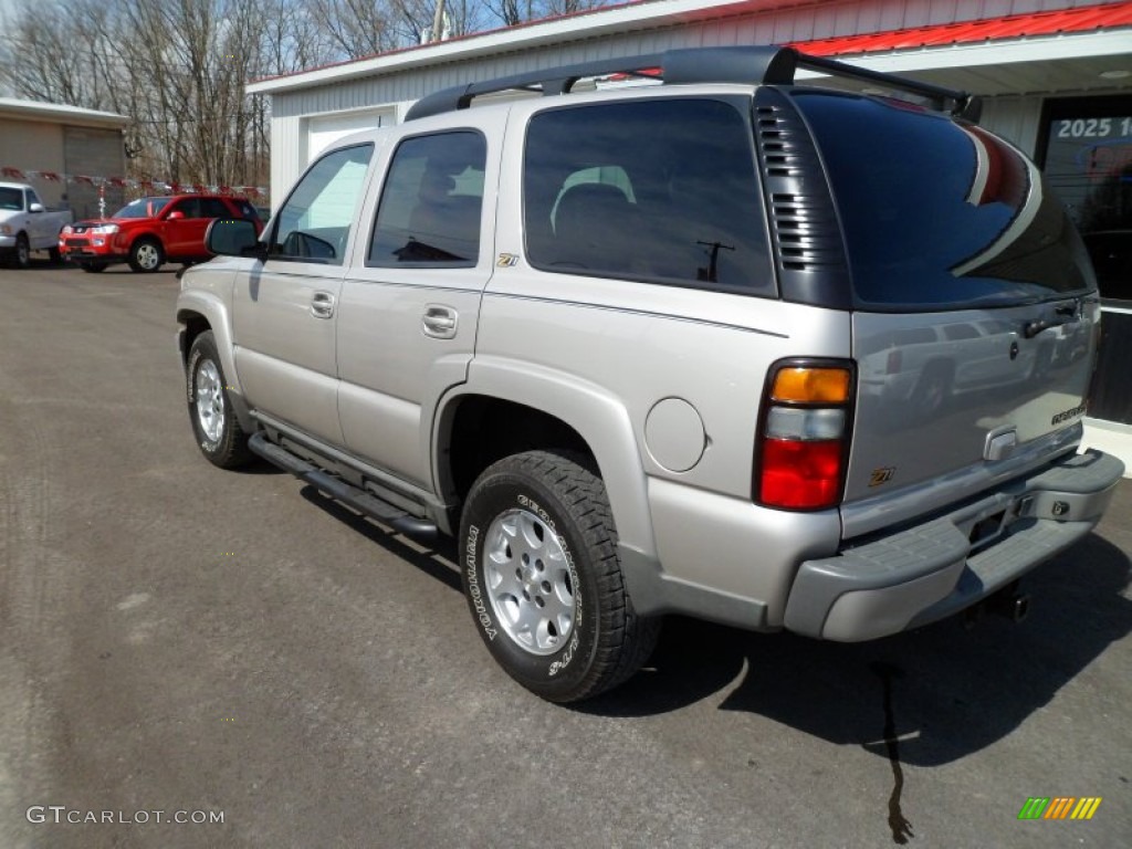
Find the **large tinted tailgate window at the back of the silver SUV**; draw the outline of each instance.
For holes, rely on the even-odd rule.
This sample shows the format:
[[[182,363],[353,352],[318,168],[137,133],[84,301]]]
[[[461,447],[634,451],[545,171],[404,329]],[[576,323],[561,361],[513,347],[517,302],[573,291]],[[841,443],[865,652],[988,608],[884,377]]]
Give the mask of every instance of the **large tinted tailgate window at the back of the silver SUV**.
[[[797,91],[863,308],[1006,306],[1096,288],[1062,203],[1026,156],[915,106]]]

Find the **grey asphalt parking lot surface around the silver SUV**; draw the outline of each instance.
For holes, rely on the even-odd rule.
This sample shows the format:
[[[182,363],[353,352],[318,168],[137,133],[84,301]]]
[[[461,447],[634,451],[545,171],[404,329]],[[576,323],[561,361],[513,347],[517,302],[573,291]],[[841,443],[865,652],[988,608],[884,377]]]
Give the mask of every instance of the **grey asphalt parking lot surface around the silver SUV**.
[[[1132,482],[1021,625],[674,619],[555,706],[451,546],[200,457],[177,291],[0,269],[0,848],[1132,846]]]

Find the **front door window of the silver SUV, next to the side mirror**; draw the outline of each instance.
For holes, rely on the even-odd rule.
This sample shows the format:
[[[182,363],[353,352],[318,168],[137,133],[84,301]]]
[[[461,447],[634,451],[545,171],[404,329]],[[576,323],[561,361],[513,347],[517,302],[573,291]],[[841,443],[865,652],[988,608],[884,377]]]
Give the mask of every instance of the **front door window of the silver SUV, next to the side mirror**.
[[[272,259],[342,265],[372,145],[346,147],[316,162],[276,216]]]

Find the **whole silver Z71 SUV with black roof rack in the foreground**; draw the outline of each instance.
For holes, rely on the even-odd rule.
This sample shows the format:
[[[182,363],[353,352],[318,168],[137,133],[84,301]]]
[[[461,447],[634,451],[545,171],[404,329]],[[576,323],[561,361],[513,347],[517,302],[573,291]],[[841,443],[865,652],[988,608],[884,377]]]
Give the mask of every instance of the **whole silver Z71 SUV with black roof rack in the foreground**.
[[[669,612],[838,641],[1021,615],[1123,466],[1077,453],[1084,247],[976,115],[779,48],[438,92],[260,239],[213,224],[177,305],[197,441],[457,537],[475,629],[552,701],[633,675]]]

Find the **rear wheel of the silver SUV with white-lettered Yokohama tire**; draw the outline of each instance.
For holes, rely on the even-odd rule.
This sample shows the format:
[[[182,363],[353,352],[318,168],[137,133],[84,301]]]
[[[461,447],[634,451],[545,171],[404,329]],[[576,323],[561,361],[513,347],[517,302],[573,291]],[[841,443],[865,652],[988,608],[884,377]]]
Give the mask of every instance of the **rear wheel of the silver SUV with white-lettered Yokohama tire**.
[[[472,486],[460,539],[477,629],[531,692],[589,698],[652,652],[659,620],[633,610],[606,488],[582,457],[535,451],[495,463]]]

